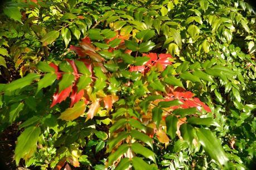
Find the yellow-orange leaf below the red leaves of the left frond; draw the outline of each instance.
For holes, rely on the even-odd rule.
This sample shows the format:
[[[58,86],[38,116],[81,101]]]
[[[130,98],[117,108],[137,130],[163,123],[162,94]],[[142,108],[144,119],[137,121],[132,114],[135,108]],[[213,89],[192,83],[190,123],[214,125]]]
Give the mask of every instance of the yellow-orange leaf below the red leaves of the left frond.
[[[84,101],[80,101],[75,103],[74,107],[67,108],[66,111],[62,112],[59,119],[65,121],[73,121],[74,119],[78,118],[83,114],[85,111],[85,103]]]

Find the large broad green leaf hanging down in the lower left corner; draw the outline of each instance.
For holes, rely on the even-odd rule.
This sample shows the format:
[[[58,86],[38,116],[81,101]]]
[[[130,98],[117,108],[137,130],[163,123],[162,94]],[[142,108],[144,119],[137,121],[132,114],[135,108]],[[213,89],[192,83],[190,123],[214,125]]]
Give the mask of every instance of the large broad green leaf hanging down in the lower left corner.
[[[18,137],[15,147],[15,161],[17,165],[21,158],[27,160],[36,151],[37,140],[40,133],[41,130],[39,127],[28,127]]]

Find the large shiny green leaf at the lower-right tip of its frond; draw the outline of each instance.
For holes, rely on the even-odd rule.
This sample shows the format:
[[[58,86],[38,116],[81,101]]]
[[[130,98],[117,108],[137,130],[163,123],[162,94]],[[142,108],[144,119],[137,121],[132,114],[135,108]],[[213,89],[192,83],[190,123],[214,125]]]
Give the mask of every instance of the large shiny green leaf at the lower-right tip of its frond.
[[[196,129],[197,137],[204,150],[220,164],[226,164],[228,157],[220,144],[220,141],[214,136],[214,134],[207,129]]]

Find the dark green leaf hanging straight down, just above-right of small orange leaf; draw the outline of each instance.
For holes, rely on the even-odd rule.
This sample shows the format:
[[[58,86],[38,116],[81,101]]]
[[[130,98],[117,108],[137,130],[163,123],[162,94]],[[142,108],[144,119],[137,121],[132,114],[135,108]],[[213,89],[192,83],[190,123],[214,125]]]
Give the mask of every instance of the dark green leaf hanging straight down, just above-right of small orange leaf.
[[[165,119],[167,134],[174,139],[177,131],[178,118],[176,116],[169,115]]]

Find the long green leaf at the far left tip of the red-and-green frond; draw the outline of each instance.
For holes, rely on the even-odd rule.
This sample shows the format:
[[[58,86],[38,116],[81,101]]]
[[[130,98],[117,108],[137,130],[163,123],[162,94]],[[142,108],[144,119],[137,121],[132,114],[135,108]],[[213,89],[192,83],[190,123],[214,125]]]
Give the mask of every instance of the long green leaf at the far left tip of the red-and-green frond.
[[[17,79],[9,84],[6,84],[6,86],[4,87],[4,91],[12,92],[12,91],[15,91],[16,89],[23,88],[25,86],[30,85],[34,79],[37,79],[39,77],[40,75],[38,74],[29,73],[27,74],[26,77]]]

